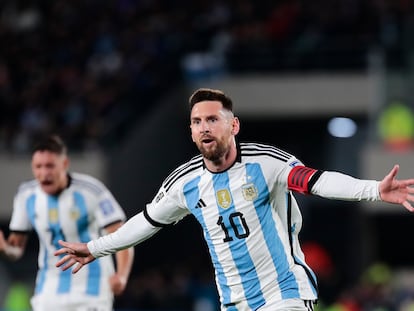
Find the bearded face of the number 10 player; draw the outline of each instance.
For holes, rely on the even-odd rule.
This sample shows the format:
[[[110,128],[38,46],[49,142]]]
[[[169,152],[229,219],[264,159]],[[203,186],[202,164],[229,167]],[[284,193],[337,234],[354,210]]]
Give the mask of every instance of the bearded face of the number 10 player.
[[[219,161],[230,149],[234,137],[233,113],[223,109],[219,101],[202,101],[191,110],[191,137],[201,154]]]

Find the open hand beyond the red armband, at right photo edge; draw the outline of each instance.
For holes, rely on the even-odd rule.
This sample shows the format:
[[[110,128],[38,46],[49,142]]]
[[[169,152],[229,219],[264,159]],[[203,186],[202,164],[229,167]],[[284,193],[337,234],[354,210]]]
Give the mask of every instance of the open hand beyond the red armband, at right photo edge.
[[[414,212],[410,203],[414,202],[414,179],[396,179],[399,168],[398,165],[394,165],[388,175],[380,182],[381,199],[388,203],[402,204],[407,210]]]

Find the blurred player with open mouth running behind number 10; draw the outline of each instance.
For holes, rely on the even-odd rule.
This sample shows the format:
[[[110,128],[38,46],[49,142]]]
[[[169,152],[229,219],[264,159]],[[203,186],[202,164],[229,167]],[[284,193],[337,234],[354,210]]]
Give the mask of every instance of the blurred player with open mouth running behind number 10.
[[[102,231],[114,232],[126,219],[124,211],[102,182],[68,171],[67,148],[58,136],[35,145],[31,166],[35,179],[17,191],[7,240],[0,231],[0,254],[19,259],[34,229],[39,257],[33,310],[112,310],[114,295],[127,284],[133,249],[116,252],[116,271],[112,258],[106,257],[76,276],[56,269],[54,252],[61,239],[87,242]]]

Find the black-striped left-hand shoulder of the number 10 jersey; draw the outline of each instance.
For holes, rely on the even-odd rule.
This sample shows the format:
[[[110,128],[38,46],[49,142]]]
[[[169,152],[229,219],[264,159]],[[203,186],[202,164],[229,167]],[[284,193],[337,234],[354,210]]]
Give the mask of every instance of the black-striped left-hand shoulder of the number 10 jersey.
[[[190,161],[177,167],[167,178],[164,179],[163,187],[168,191],[174,184],[183,183],[204,170],[203,158],[201,155],[193,157]]]

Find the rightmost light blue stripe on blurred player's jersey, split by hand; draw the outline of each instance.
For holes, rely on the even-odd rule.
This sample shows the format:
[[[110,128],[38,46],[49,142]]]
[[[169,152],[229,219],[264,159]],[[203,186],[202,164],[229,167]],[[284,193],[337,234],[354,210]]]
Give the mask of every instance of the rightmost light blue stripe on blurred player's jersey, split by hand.
[[[79,218],[76,222],[78,229],[79,239],[81,242],[86,243],[91,240],[91,236],[88,232],[89,219],[88,209],[86,207],[85,198],[79,192],[73,194],[76,207],[79,209]],[[101,279],[101,266],[99,260],[94,260],[88,265],[88,277],[86,285],[86,293],[89,295],[97,296],[100,291],[100,279]]]

